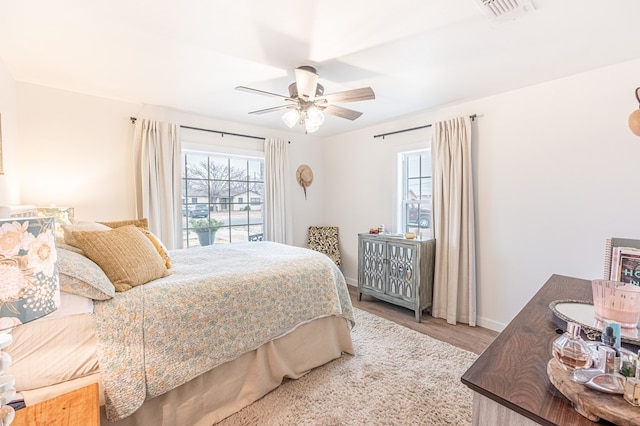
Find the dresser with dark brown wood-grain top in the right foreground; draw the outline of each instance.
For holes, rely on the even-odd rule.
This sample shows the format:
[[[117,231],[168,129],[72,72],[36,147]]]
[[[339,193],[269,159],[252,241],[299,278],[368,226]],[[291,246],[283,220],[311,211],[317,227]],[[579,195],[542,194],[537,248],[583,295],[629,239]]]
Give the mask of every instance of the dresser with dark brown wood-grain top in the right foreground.
[[[474,426],[594,425],[547,376],[556,329],[565,328],[549,303],[560,299],[593,300],[591,281],[551,276],[464,373],[462,382],[474,391]]]

